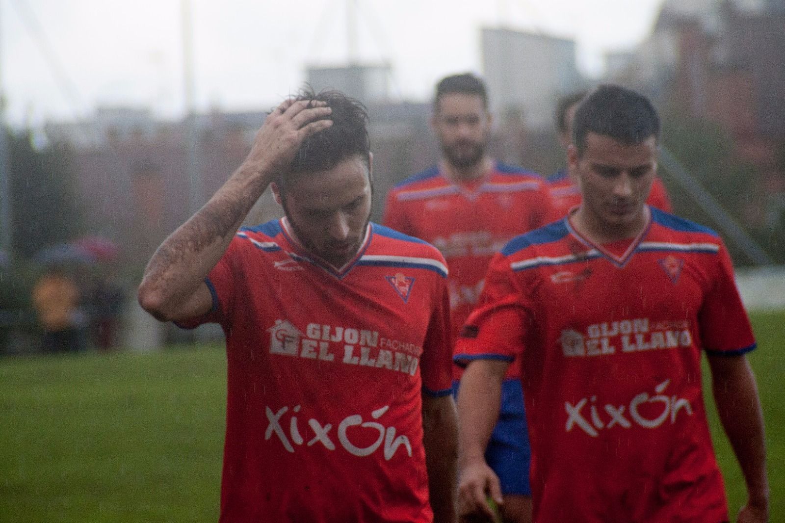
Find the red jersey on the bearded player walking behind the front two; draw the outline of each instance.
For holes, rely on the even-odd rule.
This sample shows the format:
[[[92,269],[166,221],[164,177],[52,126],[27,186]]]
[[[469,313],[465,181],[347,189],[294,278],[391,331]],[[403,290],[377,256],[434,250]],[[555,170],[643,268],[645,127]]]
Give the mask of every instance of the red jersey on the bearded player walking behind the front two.
[[[444,254],[450,267],[455,342],[480,296],[493,255],[515,236],[551,219],[542,178],[497,163],[472,185],[450,181],[437,166],[407,178],[389,192],[384,223],[432,243]]]

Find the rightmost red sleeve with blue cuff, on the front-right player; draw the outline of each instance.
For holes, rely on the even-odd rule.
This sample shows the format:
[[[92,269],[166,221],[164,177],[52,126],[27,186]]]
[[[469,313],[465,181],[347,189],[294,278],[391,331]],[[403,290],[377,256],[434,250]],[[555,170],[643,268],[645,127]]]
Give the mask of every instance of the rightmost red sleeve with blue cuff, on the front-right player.
[[[734,355],[755,348],[750,319],[736,288],[733,266],[725,245],[720,245],[717,275],[698,313],[703,349],[707,353]]]

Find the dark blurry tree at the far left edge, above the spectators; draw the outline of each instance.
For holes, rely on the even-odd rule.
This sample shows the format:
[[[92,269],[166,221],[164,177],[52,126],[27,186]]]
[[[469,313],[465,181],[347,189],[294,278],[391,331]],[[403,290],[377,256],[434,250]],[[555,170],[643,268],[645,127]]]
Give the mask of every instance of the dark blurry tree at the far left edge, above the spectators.
[[[9,134],[13,251],[31,258],[50,243],[74,239],[82,216],[72,190],[71,148],[38,148],[29,131]]]

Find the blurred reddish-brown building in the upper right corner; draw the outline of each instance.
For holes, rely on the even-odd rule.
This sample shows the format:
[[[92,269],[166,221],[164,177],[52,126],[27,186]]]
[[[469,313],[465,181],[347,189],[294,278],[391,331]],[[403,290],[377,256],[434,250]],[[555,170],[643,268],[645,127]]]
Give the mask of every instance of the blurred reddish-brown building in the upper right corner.
[[[666,0],[652,34],[608,61],[610,78],[683,115],[718,123],[745,159],[776,163],[785,143],[785,2]]]

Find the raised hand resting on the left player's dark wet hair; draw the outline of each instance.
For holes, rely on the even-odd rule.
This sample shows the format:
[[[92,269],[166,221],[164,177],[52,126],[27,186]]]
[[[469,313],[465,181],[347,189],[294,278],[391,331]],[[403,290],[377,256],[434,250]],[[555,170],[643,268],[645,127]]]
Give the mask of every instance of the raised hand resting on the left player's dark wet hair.
[[[246,164],[270,176],[287,170],[305,138],[333,124],[331,113],[323,101],[283,101],[257,131]]]

